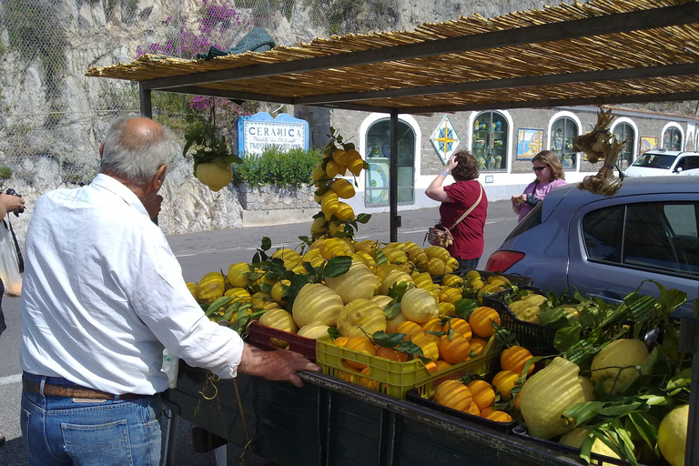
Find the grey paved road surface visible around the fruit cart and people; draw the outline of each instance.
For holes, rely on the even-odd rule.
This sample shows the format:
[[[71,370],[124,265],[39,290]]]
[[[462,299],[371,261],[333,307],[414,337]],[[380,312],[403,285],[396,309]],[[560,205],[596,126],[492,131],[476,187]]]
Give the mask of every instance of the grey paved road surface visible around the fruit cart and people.
[[[425,231],[439,220],[437,208],[401,211],[402,227],[398,232],[399,241],[413,241],[422,244]],[[479,268],[491,252],[500,246],[502,240],[516,225],[510,201],[491,202],[488,222],[485,228],[485,251]],[[198,281],[212,270],[228,269],[233,262],[250,261],[261,239],[268,237],[275,247],[285,245],[294,248],[299,245],[299,236],[309,235],[310,223],[289,224],[273,227],[231,228],[187,235],[168,237],[171,248],[177,255],[187,281]],[[358,239],[374,238],[387,241],[390,238],[389,215],[377,214],[366,225],[360,225]],[[19,427],[20,365],[19,347],[21,341],[21,318],[19,299],[3,300],[8,329],[0,338],[0,432],[7,438],[5,447],[0,448],[0,466],[25,466],[25,452]],[[176,458],[170,464],[203,466],[216,464],[213,453],[195,453],[191,446],[191,424],[179,422],[176,442]],[[238,464],[239,451],[228,448],[228,464]],[[266,461],[254,455],[246,457],[246,464],[263,466]]]

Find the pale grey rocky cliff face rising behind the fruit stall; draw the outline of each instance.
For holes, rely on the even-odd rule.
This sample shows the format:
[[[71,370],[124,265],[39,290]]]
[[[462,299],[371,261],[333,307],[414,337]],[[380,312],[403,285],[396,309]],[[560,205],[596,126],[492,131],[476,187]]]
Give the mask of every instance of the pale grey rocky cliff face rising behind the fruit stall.
[[[191,56],[234,46],[262,25],[279,45],[330,34],[411,29],[460,15],[502,15],[556,0],[4,0],[0,3],[0,167],[29,206],[48,189],[88,182],[97,147],[119,116],[137,116],[137,86],[86,77],[90,66],[130,62],[137,50]],[[238,4],[238,5],[236,5]],[[248,6],[241,6],[248,5]],[[205,25],[202,17],[212,18]],[[151,48],[149,48],[151,47]],[[177,108],[156,117],[181,121]],[[235,188],[211,193],[191,161],[169,171],[160,218],[167,234],[240,226]],[[20,223],[28,216],[20,218]],[[24,225],[20,225],[20,230]]]

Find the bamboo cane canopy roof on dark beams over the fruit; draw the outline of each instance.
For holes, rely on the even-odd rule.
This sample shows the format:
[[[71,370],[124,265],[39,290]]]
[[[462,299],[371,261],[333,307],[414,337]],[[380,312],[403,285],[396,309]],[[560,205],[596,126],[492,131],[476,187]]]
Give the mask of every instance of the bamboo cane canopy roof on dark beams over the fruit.
[[[593,0],[86,76],[142,90],[385,113],[699,100],[699,2]]]

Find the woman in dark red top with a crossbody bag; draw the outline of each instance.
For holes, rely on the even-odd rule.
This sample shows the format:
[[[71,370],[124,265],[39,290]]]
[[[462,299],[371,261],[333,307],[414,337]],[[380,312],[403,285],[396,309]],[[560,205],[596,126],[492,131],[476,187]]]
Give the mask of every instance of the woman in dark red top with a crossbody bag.
[[[454,177],[454,183],[442,187],[444,179]],[[483,254],[483,228],[488,215],[488,198],[478,181],[478,162],[471,152],[462,150],[449,158],[447,166],[425,190],[428,198],[441,202],[441,224],[450,228],[472,206],[476,205],[468,217],[451,228],[454,244],[448,249],[451,257],[459,259],[459,269],[474,270]],[[482,195],[481,195],[482,193]]]

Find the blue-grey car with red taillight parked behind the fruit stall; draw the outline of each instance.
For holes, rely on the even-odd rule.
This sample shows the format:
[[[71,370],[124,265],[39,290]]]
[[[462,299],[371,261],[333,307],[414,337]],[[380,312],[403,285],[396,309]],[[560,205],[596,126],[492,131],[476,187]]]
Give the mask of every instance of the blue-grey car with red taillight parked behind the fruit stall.
[[[680,289],[688,301],[699,290],[699,179],[624,178],[615,196],[553,189],[491,254],[488,271],[531,277],[534,286],[562,294],[619,302],[643,280]],[[643,283],[653,296],[658,289]],[[677,317],[694,316],[693,302]]]

